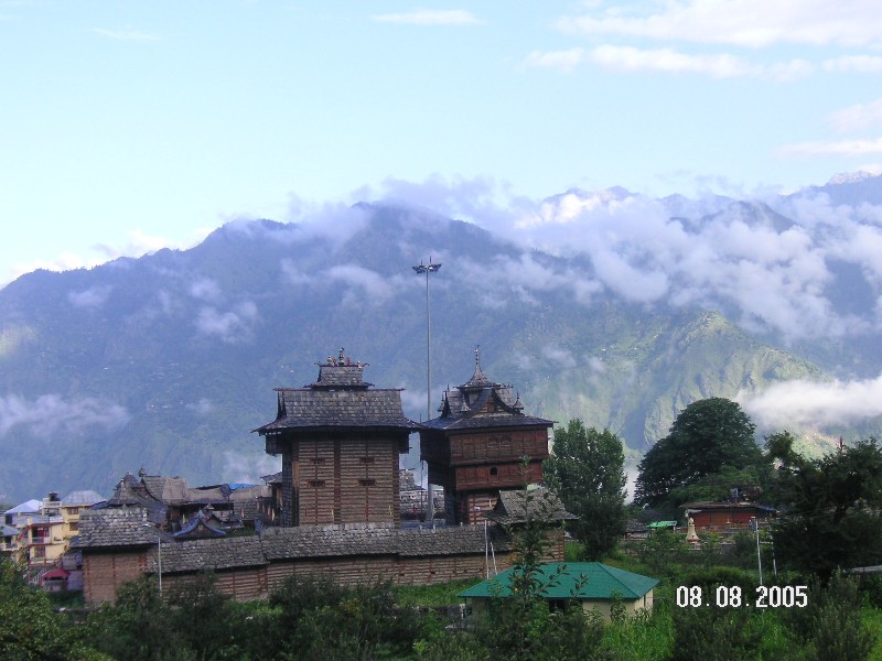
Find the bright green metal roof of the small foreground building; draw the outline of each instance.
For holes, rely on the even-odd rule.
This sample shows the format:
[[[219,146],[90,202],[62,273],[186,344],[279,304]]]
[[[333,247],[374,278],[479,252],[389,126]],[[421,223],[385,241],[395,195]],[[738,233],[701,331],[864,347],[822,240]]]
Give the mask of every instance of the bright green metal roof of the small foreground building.
[[[458,596],[508,597],[512,595],[514,571],[515,567],[510,567],[494,578],[462,590]],[[632,600],[641,598],[658,585],[657,578],[600,562],[547,563],[539,566],[537,578],[546,585],[542,596],[547,599],[612,599],[613,594],[617,594],[624,600]]]

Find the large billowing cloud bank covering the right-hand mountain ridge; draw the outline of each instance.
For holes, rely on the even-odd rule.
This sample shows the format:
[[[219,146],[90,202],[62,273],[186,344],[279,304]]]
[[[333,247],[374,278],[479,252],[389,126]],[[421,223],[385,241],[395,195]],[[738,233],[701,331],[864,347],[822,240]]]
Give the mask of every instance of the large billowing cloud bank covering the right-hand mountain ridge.
[[[859,267],[865,286],[882,295],[874,257],[882,253],[882,207],[831,205],[824,195],[668,202],[621,189],[528,201],[492,182],[449,184],[430,181],[427,198],[447,208],[486,208],[480,224],[519,248],[458,260],[455,277],[480,281],[488,306],[536,305],[544,292],[590,306],[605,291],[644,305],[717,310],[787,340],[882,327],[882,310],[838,312],[828,266]],[[419,198],[412,188],[409,197]],[[477,202],[467,198],[473,192]]]

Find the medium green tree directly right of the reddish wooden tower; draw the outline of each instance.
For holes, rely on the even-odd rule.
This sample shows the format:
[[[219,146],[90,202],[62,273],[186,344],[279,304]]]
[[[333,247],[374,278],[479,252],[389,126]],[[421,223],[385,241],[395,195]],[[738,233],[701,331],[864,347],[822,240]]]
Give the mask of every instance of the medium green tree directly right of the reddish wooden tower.
[[[584,560],[601,560],[625,532],[624,466],[622,441],[609,430],[585,429],[579,419],[555,430],[544,475],[567,511],[579,517],[571,531]]]

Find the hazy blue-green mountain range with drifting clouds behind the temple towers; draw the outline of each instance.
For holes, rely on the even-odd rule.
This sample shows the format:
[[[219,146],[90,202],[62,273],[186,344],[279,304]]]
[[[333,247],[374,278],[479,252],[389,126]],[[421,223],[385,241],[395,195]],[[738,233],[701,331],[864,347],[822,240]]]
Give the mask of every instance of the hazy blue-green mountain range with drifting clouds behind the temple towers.
[[[279,469],[251,430],[341,347],[427,414],[474,370],[526,412],[616,432],[633,463],[677,413],[736,399],[809,452],[882,426],[882,176],[763,198],[568,191],[384,199],[237,220],[183,251],[34,271],[0,290],[0,492],[127,472]],[[434,412],[432,413],[434,415]],[[407,466],[418,465],[415,436]]]

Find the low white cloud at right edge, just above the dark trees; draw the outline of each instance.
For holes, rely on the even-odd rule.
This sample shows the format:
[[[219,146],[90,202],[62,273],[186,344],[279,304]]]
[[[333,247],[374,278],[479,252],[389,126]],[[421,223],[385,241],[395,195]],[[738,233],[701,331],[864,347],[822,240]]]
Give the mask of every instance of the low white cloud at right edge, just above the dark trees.
[[[882,375],[860,381],[795,380],[735,398],[761,429],[824,427],[882,415]]]

